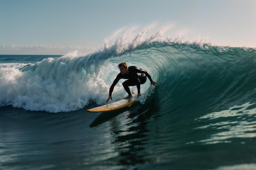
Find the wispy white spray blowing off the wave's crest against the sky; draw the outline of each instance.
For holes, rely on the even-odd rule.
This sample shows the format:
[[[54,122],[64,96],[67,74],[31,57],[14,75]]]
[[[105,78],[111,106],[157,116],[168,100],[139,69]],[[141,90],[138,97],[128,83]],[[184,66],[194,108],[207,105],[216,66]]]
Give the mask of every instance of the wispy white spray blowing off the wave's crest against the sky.
[[[191,37],[189,29],[178,29],[175,28],[174,23],[170,23],[162,27],[157,26],[157,24],[142,28],[139,26],[123,27],[113,33],[110,38],[105,39],[104,49],[121,53],[127,49],[135,49],[143,43],[152,42],[211,45],[210,38],[204,38],[202,35]]]

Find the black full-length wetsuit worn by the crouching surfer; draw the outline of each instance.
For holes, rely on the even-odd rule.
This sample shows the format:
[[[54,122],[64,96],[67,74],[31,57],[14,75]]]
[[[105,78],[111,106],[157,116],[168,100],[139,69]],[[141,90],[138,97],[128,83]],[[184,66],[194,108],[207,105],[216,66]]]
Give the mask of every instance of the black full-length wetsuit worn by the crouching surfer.
[[[150,82],[153,81],[151,76],[148,74],[148,72],[146,70],[143,70],[143,69],[135,67],[135,66],[130,66],[130,67],[128,67],[128,71],[129,71],[128,74],[119,73],[117,75],[114,82],[110,86],[109,96],[112,95],[114,87],[120,79],[128,79],[123,82],[124,89],[128,93],[128,95],[132,95],[130,92],[130,88],[128,86],[137,86],[138,93],[140,93],[140,85],[144,84],[146,82],[147,77],[150,80]]]

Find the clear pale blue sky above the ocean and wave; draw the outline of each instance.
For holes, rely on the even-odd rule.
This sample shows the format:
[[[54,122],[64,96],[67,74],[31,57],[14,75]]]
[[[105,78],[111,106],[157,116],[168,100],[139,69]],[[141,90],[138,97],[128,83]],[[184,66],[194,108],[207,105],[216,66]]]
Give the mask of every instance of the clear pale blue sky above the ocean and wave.
[[[256,47],[256,0],[0,0],[0,54],[92,53],[119,29]]]

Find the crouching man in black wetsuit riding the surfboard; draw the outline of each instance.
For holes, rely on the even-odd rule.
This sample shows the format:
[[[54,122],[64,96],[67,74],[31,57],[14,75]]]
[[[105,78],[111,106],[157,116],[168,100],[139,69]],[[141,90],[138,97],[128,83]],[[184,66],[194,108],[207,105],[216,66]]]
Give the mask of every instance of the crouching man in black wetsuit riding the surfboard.
[[[138,67],[135,67],[135,66],[128,67],[128,64],[126,62],[121,62],[118,65],[118,68],[120,70],[120,73],[117,75],[114,82],[110,86],[109,97],[108,97],[106,103],[108,103],[110,99],[112,100],[112,96],[111,96],[112,92],[114,90],[115,85],[117,84],[117,82],[120,79],[128,79],[128,80],[123,82],[124,90],[128,93],[128,96],[125,97],[124,99],[128,99],[128,98],[132,97],[129,86],[137,86],[137,89],[138,89],[137,97],[140,97],[141,96],[141,94],[140,94],[140,85],[144,84],[146,82],[147,77],[148,77],[148,79],[150,80],[150,82],[153,86],[156,87],[158,85],[157,82],[154,82],[152,80],[152,78],[148,74],[148,72],[141,69],[141,68],[138,68]]]

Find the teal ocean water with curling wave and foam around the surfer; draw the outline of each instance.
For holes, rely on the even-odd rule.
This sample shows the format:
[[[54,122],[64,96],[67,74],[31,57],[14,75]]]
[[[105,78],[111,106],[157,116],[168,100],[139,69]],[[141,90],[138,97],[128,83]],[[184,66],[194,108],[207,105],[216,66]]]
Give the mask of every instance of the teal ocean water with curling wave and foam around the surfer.
[[[0,55],[0,169],[256,169],[256,49],[117,44]],[[159,86],[147,81],[128,108],[86,112],[105,104],[122,61]],[[122,82],[113,101],[126,96]]]

